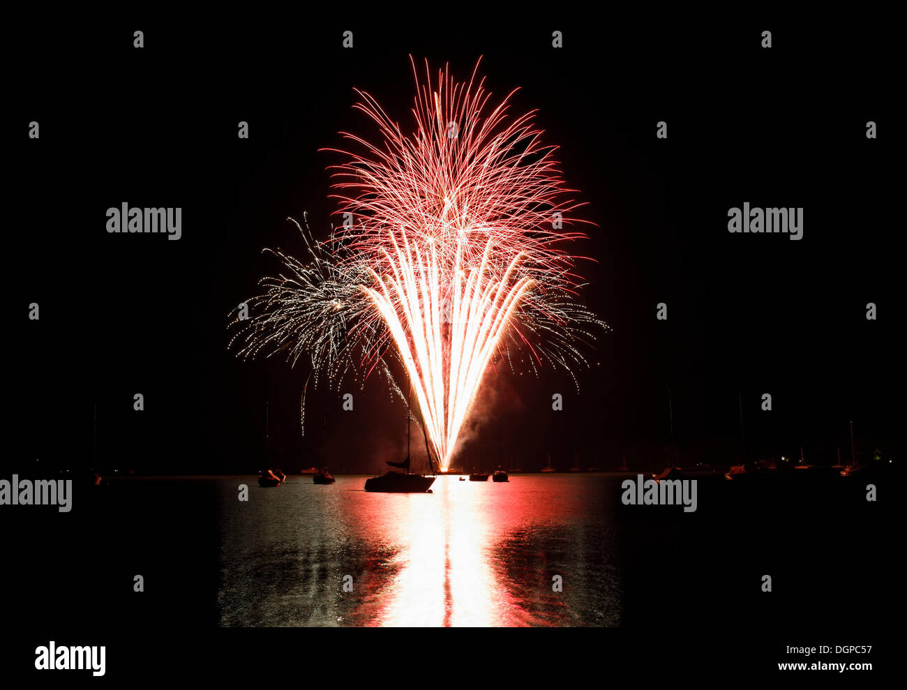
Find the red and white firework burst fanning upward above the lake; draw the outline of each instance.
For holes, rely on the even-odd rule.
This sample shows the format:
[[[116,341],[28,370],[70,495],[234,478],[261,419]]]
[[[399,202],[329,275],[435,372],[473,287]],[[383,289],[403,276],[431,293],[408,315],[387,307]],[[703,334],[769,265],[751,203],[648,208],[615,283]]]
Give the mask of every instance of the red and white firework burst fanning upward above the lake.
[[[512,94],[491,107],[475,71],[469,83],[440,72],[434,88],[427,63],[424,85],[413,71],[411,135],[359,92],[381,142],[345,133],[363,151],[339,151],[347,161],[332,167],[337,212],[352,222],[324,244],[299,228],[308,264],[275,252],[288,275],[250,300],[240,352],[306,353],[334,380],[377,370],[393,381],[398,360],[447,469],[495,354],[525,348],[533,368],[571,371],[605,325],[575,299],[577,257],[560,247],[584,237],[561,230],[579,204],[564,200],[573,190],[533,113],[508,124]]]

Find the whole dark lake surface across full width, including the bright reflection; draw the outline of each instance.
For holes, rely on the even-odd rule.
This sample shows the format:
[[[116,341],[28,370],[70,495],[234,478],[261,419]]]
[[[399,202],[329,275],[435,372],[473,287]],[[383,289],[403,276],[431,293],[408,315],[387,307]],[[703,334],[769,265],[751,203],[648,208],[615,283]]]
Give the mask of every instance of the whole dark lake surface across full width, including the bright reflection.
[[[274,489],[255,477],[124,478],[74,491],[69,513],[6,507],[16,559],[5,581],[21,609],[14,618],[34,621],[40,636],[45,620],[68,621],[74,633],[186,635],[594,626],[635,628],[664,646],[698,639],[696,630],[772,631],[792,611],[791,630],[865,630],[892,610],[896,478],[875,480],[876,502],[860,480],[702,480],[698,508],[686,513],[622,505],[620,483],[633,476],[445,476],[431,494],[366,493],[366,477],[318,486],[297,475]],[[240,483],[248,502],[238,500]]]

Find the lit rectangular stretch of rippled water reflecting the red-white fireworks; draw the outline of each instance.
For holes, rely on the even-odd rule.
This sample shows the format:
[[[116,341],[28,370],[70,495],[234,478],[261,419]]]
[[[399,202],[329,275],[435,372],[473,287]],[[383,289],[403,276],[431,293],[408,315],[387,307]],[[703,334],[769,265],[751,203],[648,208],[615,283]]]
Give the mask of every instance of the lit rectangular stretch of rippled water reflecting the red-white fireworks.
[[[620,624],[615,478],[440,476],[425,494],[365,481],[219,480],[220,625]]]

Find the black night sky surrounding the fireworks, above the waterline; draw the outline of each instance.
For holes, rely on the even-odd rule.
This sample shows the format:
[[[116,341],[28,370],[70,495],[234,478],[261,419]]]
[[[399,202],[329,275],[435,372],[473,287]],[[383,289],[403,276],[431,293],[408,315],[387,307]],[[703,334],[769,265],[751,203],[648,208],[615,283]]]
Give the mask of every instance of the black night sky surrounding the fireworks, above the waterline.
[[[371,472],[402,452],[403,406],[378,378],[364,390],[310,390],[301,439],[306,366],[236,359],[226,325],[278,268],[262,248],[301,251],[288,217],[307,212],[316,236],[327,234],[326,168],[338,158],[318,150],[340,144],[338,131],[375,133],[351,107],[354,87],[408,121],[409,54],[459,78],[483,56],[495,95],[521,87],[512,112],[538,109],[588,202],[595,226],[577,251],[596,263],[581,267],[585,298],[613,328],[590,355],[600,364],[577,373],[579,394],[557,372],[486,379],[482,428],[473,423],[454,466],[496,464],[498,418],[503,461],[527,470],[548,451],[564,468],[574,452],[602,469],[621,453],[663,466],[668,389],[684,462],[739,462],[738,394],[747,460],[802,447],[807,462],[834,464],[838,448],[847,461],[851,420],[858,454],[897,454],[900,231],[885,141],[897,125],[886,118],[892,84],[867,66],[889,48],[802,26],[776,30],[766,51],[756,24],[701,34],[602,34],[584,22],[381,33],[359,20],[277,34],[149,25],[142,51],[131,33],[52,33],[69,48],[54,54],[70,57],[53,61],[32,44],[22,57],[33,68],[14,77],[27,98],[7,103],[15,127],[41,126],[39,141],[9,144],[19,172],[7,206],[7,414],[22,441],[11,469],[35,458],[91,464],[95,403],[102,471],[257,471],[266,401],[271,464]],[[340,47],[346,28],[353,50]],[[564,49],[551,48],[552,28]],[[241,120],[248,141],[237,138]],[[666,141],[655,137],[660,120]],[[878,140],[865,137],[870,120]],[[181,207],[180,241],[106,233],[105,209],[124,201]],[[804,238],[728,233],[727,209],[744,202],[803,207]],[[31,302],[38,322],[25,319]],[[344,392],[353,412],[341,410]],[[553,393],[563,412],[551,411]]]

